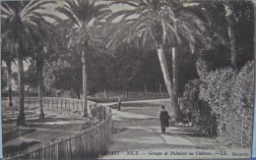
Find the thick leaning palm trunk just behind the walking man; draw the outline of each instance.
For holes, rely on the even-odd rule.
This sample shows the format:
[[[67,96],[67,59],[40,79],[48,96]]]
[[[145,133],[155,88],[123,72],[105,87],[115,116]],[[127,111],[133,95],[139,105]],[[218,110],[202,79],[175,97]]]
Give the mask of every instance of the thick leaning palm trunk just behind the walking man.
[[[169,76],[169,71],[167,68],[167,62],[166,62],[166,58],[164,55],[163,44],[159,44],[158,46],[159,47],[157,50],[158,50],[158,55],[159,55],[159,59],[160,59],[160,68],[161,68],[161,72],[163,75],[163,80],[165,82],[167,91],[169,93],[170,104],[174,109],[174,118],[177,121],[179,121],[181,119],[181,112],[180,112],[180,108],[177,105],[177,99],[174,98],[172,84],[171,84],[171,80],[170,80],[170,76]]]

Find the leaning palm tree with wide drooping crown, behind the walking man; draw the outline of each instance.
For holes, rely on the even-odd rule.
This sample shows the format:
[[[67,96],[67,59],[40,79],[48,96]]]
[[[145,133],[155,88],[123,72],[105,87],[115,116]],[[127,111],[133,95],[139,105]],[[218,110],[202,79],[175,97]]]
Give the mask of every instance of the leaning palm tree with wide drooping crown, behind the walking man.
[[[133,37],[140,36],[142,44],[152,40],[157,48],[160,68],[165,81],[167,91],[170,96],[171,106],[174,108],[174,117],[181,119],[180,108],[177,104],[177,97],[173,92],[173,85],[170,79],[165,49],[175,47],[177,44],[188,43],[192,53],[195,52],[197,40],[205,39],[204,23],[197,14],[190,10],[188,3],[169,0],[110,0],[111,5],[126,4],[130,6],[127,10],[114,13],[107,20],[109,22],[120,18],[115,26],[115,32],[111,33],[111,39],[107,45],[113,49],[122,42],[130,41]],[[193,7],[193,6],[192,6]],[[127,32],[127,34],[124,33]],[[110,35],[109,35],[110,36]],[[121,40],[124,39],[124,40]],[[201,40],[202,42],[206,40]],[[175,75],[176,73],[173,73]]]

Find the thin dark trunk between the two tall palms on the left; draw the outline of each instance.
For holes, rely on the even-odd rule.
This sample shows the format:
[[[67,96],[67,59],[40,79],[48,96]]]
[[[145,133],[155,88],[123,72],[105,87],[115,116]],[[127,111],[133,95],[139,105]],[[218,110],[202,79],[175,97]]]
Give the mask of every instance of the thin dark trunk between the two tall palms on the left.
[[[36,59],[36,72],[37,72],[37,91],[39,99],[39,119],[44,119],[43,106],[42,106],[42,72],[43,72],[43,59]]]

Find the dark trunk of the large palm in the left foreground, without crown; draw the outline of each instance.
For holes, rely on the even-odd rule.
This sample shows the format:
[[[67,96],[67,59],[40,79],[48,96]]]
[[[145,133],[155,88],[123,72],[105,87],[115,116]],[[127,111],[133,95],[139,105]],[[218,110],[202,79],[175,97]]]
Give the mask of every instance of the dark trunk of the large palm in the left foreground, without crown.
[[[18,58],[18,80],[19,80],[19,115],[17,118],[17,126],[25,125],[25,110],[24,110],[24,66],[23,66],[23,55],[17,55]]]

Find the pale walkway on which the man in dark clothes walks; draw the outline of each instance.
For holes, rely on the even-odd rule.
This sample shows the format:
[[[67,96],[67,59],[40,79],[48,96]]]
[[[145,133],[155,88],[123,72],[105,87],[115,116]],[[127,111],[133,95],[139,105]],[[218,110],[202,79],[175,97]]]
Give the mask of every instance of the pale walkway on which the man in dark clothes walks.
[[[153,105],[145,105],[145,102]],[[138,106],[142,104],[142,107],[134,107],[134,103]],[[166,129],[165,134],[160,133],[160,105],[167,103],[169,103],[167,99],[125,102],[122,111],[113,109],[112,139],[106,153],[99,159],[145,158],[151,154],[149,151],[169,152],[172,148],[202,148],[187,138],[188,135],[195,133],[193,128],[170,127]],[[151,155],[149,158],[164,158],[164,156]]]

